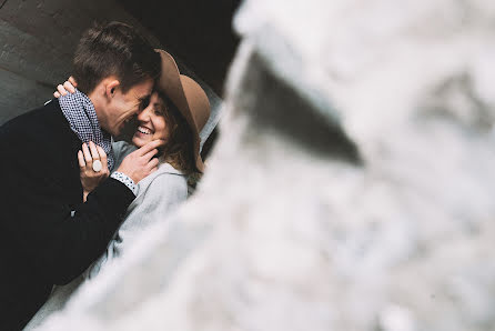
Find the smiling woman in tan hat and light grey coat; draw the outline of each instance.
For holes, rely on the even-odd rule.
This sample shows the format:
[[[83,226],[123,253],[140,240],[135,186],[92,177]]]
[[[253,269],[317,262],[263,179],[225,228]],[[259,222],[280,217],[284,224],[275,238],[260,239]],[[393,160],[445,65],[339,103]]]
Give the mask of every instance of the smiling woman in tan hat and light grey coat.
[[[162,74],[147,104],[138,114],[138,128],[128,142],[113,143],[114,169],[137,148],[151,140],[164,141],[159,152],[158,170],[137,185],[137,197],[130,204],[124,220],[109,243],[107,251],[79,279],[70,284],[58,287],[50,299],[38,311],[27,329],[39,325],[50,313],[63,308],[70,294],[84,279],[94,278],[115,257],[130,250],[132,242],[152,223],[163,221],[188,198],[188,177],[201,173],[204,169],[200,157],[199,132],[210,117],[210,103],[203,89],[191,78],[180,74],[173,58],[160,50]],[[72,80],[72,83],[75,82]],[[65,82],[67,90],[73,90]],[[59,92],[67,92],[59,86]],[[55,92],[57,93],[57,92]],[[58,97],[55,94],[55,97]],[[107,162],[98,172],[93,170],[93,159],[105,160],[104,152],[90,143],[79,152],[81,183],[84,198],[108,177]],[[98,170],[98,168],[97,168]]]

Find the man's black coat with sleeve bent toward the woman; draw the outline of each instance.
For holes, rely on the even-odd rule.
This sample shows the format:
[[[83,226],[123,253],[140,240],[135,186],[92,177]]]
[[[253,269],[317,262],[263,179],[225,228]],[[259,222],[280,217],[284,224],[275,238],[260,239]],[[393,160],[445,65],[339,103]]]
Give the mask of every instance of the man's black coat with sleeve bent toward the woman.
[[[58,100],[0,127],[0,330],[21,329],[53,284],[83,272],[134,199],[108,179],[82,203],[81,143]]]

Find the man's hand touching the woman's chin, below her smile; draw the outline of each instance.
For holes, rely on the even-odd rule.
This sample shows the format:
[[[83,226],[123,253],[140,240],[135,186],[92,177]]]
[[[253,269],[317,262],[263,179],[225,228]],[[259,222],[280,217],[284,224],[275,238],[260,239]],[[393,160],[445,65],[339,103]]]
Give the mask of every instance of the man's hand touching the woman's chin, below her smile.
[[[158,148],[164,143],[163,140],[153,140],[137,151],[133,151],[123,159],[117,171],[125,173],[135,183],[156,170],[158,159],[153,158],[158,153]]]

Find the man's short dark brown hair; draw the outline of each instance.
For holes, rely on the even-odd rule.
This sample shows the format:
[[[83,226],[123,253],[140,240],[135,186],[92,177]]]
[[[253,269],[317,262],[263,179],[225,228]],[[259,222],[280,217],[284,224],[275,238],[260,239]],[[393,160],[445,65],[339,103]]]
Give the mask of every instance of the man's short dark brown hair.
[[[160,54],[132,27],[121,22],[94,23],[74,54],[73,77],[78,89],[91,93],[104,78],[115,76],[122,92],[160,76]]]

